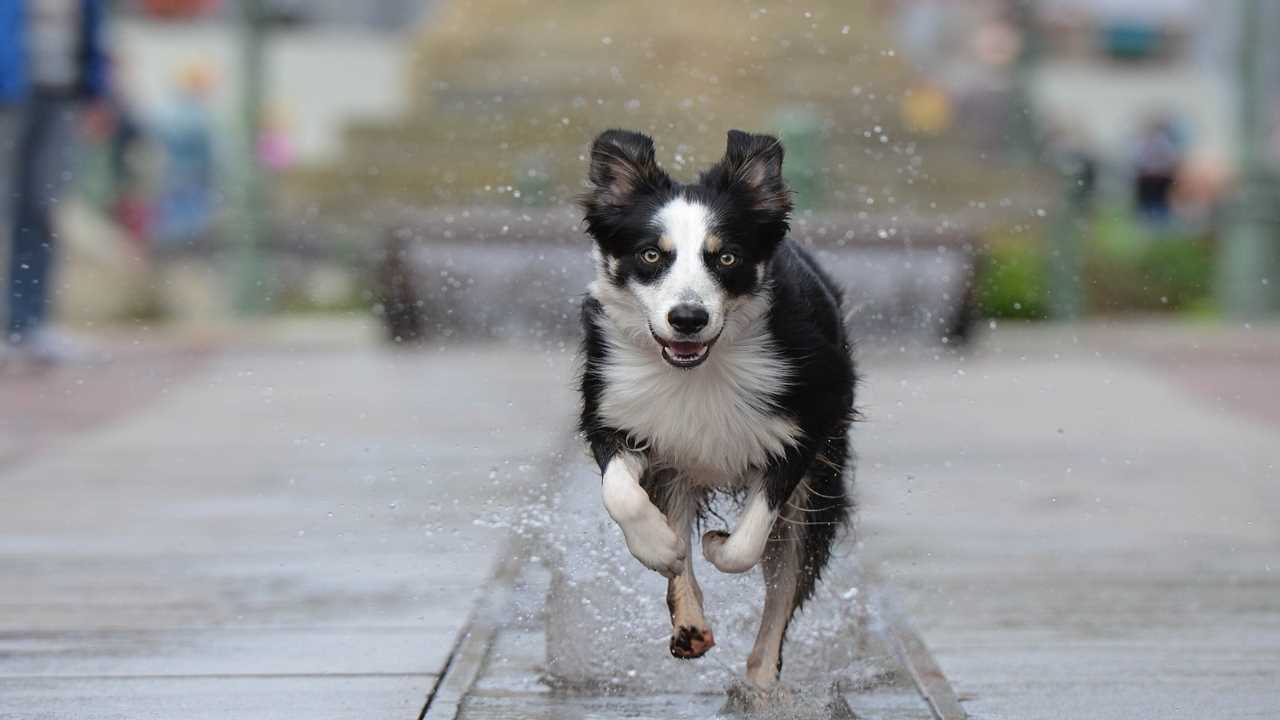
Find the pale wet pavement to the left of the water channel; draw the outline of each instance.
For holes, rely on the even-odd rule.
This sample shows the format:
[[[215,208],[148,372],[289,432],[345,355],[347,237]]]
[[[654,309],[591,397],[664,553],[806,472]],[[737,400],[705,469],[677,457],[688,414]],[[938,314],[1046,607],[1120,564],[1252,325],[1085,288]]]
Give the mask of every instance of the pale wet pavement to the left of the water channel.
[[[493,519],[570,427],[570,357],[264,340],[19,442],[0,717],[416,717],[497,562]],[[131,373],[113,397],[159,382]],[[76,375],[40,382],[74,397]]]

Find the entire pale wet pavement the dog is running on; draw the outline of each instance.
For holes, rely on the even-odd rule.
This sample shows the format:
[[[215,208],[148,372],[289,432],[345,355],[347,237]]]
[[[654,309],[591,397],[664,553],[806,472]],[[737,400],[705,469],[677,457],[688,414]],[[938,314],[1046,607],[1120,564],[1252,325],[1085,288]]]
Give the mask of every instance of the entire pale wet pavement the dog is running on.
[[[969,356],[865,347],[854,596],[902,611],[972,717],[1275,716],[1280,423],[1260,398],[1276,347],[1274,327],[1149,323],[1001,325]],[[536,536],[531,509],[566,487],[552,469],[576,461],[571,356],[387,352],[360,333],[232,343],[180,373],[118,368],[92,396],[109,411],[31,418],[47,442],[6,432],[0,719],[417,717],[429,697],[430,719],[713,716],[751,602],[726,602],[732,584],[709,607],[714,657],[662,657],[660,589],[637,585],[645,611],[585,657],[653,682],[549,671],[572,664],[549,661],[568,635],[548,607],[595,592],[550,592],[557,573],[590,579],[620,547],[596,537],[581,543],[596,560],[557,564],[504,544]],[[41,387],[74,398],[97,380]],[[559,518],[603,519],[575,496],[594,510]],[[837,607],[851,588],[829,589]],[[867,618],[845,619],[849,638],[877,637]],[[861,717],[928,716],[893,653],[855,648],[867,662],[840,669]]]

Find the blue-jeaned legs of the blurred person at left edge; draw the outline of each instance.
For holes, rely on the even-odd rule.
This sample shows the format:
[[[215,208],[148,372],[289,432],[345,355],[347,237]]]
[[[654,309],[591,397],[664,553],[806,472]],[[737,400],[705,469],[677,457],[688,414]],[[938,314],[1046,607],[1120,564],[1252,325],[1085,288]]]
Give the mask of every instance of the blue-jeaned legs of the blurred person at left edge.
[[[9,258],[10,342],[22,343],[49,313],[54,210],[69,178],[72,101],[35,97],[20,113]]]

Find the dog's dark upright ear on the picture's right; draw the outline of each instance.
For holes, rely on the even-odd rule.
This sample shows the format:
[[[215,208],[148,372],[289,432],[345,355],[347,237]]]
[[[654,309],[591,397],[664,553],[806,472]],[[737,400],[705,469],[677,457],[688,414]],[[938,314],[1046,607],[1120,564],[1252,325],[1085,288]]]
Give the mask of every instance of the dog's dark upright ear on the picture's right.
[[[724,159],[703,182],[741,195],[750,210],[776,215],[781,222],[791,213],[791,191],[782,179],[782,141],[772,135],[728,131]]]

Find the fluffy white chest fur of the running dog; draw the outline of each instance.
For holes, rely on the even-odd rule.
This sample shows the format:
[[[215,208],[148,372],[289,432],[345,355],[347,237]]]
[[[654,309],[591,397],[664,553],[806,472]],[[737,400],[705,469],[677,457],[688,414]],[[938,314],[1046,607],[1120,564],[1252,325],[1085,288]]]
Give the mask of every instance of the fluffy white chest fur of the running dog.
[[[763,319],[722,337],[707,363],[692,370],[672,368],[653,347],[630,342],[617,328],[604,334],[609,352],[602,368],[600,415],[648,446],[658,464],[695,482],[733,486],[799,436],[773,401],[790,368]]]

